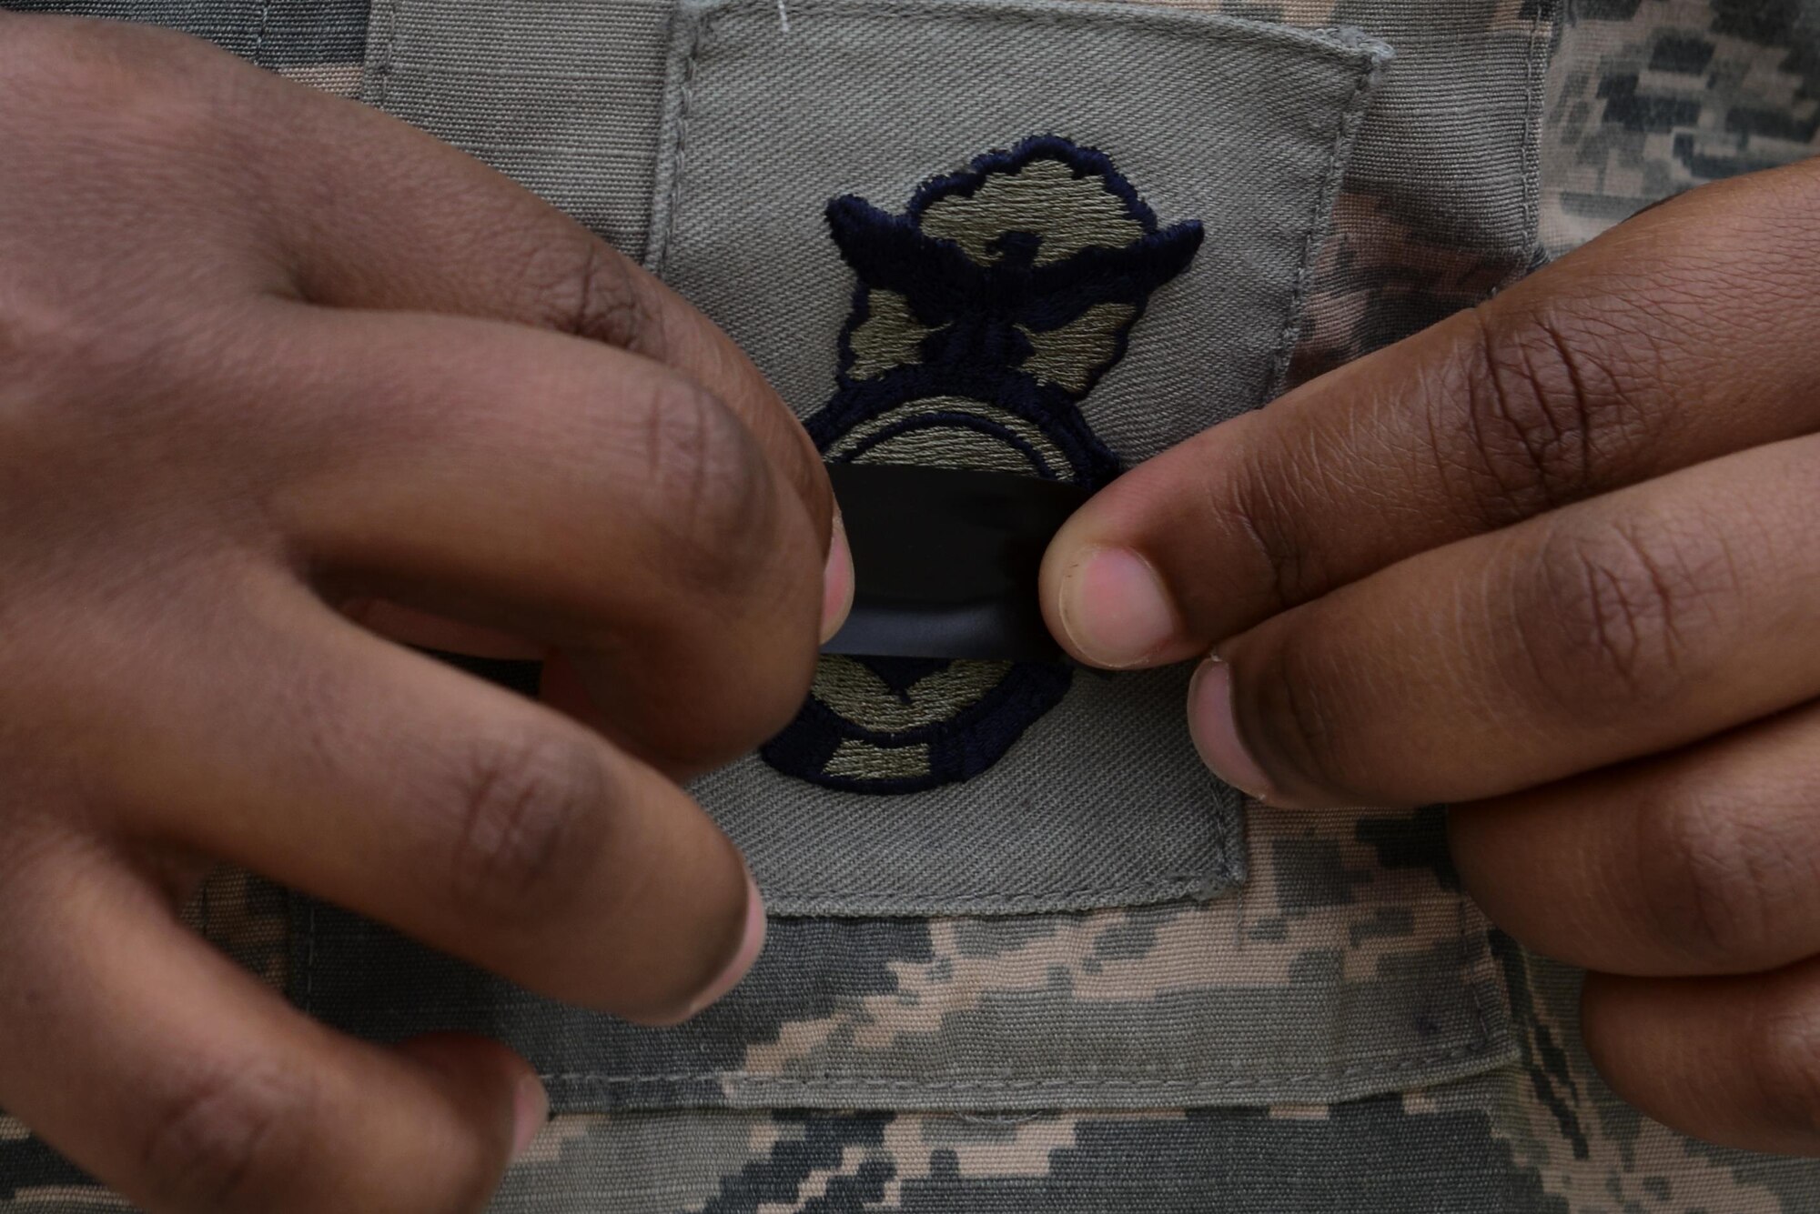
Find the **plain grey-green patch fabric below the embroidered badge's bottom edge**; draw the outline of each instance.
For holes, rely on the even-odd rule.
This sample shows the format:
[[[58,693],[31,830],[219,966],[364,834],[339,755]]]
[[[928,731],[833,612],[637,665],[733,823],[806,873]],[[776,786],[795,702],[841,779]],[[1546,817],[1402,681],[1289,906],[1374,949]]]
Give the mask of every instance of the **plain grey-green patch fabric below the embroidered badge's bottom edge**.
[[[746,758],[692,792],[777,914],[1023,914],[1210,898],[1245,874],[1238,794],[1194,760],[1188,676],[1077,671],[981,776],[839,792]]]

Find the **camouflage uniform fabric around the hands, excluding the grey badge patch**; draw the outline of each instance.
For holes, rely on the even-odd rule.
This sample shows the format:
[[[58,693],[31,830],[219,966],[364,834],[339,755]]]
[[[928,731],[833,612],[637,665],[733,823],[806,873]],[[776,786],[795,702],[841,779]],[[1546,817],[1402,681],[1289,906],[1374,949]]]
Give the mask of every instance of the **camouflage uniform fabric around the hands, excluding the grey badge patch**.
[[[324,36],[317,62],[255,51],[269,45],[257,33],[264,13],[313,9],[324,27],[346,31],[348,4],[82,7],[187,22],[286,75],[353,93],[362,58],[346,38]],[[379,35],[400,29],[400,5],[406,18],[435,11],[446,27],[471,33],[450,35],[451,49],[411,55],[404,31],[406,53],[388,58]],[[1815,0],[1578,0],[1567,11],[1540,0],[1190,7],[1352,25],[1398,53],[1316,253],[1292,380],[1471,305],[1649,202],[1816,151]],[[582,120],[577,105],[617,87],[626,78],[617,65],[646,71],[662,60],[668,5],[384,0],[373,16],[377,40],[364,51],[371,100],[389,62],[399,89],[389,109],[473,144],[482,134],[477,93],[517,89],[522,129],[495,162],[642,254],[661,98],[628,93],[612,118]],[[626,133],[642,151],[621,151]],[[874,196],[886,200],[901,198]],[[511,1214],[1820,1209],[1816,1165],[1685,1139],[1598,1081],[1574,1023],[1578,976],[1485,929],[1447,869],[1438,811],[1259,811],[1249,854],[1245,887],[1207,903],[779,920],[783,945],[766,950],[755,994],[735,996],[748,1000],[739,1023],[712,1040],[662,1045],[551,1009],[524,1016],[513,1005],[522,996],[464,970],[389,981],[384,949],[342,952],[339,980],[311,970],[288,947],[300,936],[289,932],[282,892],[238,874],[213,881],[193,916],[269,981],[288,983],[318,1012],[366,1018],[375,1036],[402,1030],[428,1003],[448,1023],[531,1025],[553,1041],[593,1041],[622,1070],[673,1050],[695,1074],[715,1076],[693,1081],[688,1096],[662,1092],[655,1103],[666,1109],[628,1107],[637,1101],[610,1085],[566,1092],[577,1112],[555,1118],[506,1179],[497,1209]],[[337,930],[375,929],[344,916]],[[804,956],[812,947],[792,947],[815,932],[843,941],[834,945],[839,974],[817,970]],[[777,1001],[761,1009],[764,998]],[[1369,1014],[1374,1003],[1387,1005],[1383,1016]],[[1472,1007],[1483,1012],[1480,1034],[1461,1032]],[[1026,1020],[1017,1018],[1023,1009]],[[1298,1027],[1298,1016],[1312,1020]],[[1085,1030],[1054,1036],[1056,1023],[1097,1025],[1094,1045]],[[1196,1023],[1218,1030],[1170,1038]],[[1380,1060],[1394,1058],[1434,1025],[1452,1034],[1449,1049],[1483,1049],[1452,1070],[1409,1067],[1369,1090],[1336,1085],[1294,1103],[1212,1096],[1205,1085],[1176,1096],[1156,1089],[1143,1107],[1108,1105],[1081,1089],[1028,1089],[1021,1109],[977,1094],[906,1101],[872,1089],[852,1090],[846,1109],[801,1110],[783,1085],[741,1090],[730,1081],[733,1072],[806,1067],[928,1080],[956,1060],[1034,1061],[1052,1072],[1085,1063],[1128,1076],[1159,1061],[1205,1065],[1190,1058],[1196,1049],[1218,1063],[1207,1076],[1281,1080],[1274,1060],[1294,1050],[1316,1065],[1367,1060],[1374,1045]],[[1001,1049],[1010,1063],[994,1054]],[[914,1052],[930,1052],[930,1063]],[[0,1210],[118,1207],[24,1127],[0,1121]]]

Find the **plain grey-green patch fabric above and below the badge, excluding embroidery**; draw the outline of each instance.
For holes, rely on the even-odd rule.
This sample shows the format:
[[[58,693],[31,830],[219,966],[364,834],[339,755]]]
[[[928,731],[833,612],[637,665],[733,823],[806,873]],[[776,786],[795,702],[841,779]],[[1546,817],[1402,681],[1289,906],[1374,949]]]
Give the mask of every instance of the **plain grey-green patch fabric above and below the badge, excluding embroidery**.
[[[1105,153],[1159,222],[1207,233],[1083,402],[1099,438],[1143,460],[1270,394],[1381,45],[1068,0],[814,0],[788,22],[764,0],[681,9],[646,260],[799,413],[834,391],[854,293],[828,200],[895,209],[1032,134]],[[1205,898],[1241,874],[1238,798],[1198,761],[1185,694],[1179,669],[1081,674],[986,772],[915,794],[757,758],[693,791],[781,914]]]

